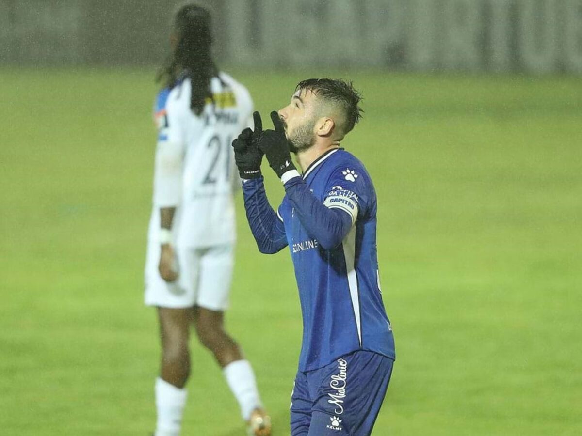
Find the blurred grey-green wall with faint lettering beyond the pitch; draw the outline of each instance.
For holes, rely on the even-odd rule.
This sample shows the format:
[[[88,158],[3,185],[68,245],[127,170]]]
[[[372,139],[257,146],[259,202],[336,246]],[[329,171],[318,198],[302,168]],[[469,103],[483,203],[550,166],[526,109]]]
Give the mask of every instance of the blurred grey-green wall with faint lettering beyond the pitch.
[[[176,3],[0,0],[0,64],[157,64]],[[205,3],[233,65],[582,73],[582,0]]]

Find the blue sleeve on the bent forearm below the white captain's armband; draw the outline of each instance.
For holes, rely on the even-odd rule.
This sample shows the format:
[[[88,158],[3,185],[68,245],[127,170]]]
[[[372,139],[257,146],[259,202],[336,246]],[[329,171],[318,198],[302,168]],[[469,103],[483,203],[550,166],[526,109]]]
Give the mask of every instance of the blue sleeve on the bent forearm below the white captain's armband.
[[[353,225],[348,213],[324,205],[301,177],[290,179],[285,184],[285,191],[310,237],[317,239],[326,250],[342,243]]]

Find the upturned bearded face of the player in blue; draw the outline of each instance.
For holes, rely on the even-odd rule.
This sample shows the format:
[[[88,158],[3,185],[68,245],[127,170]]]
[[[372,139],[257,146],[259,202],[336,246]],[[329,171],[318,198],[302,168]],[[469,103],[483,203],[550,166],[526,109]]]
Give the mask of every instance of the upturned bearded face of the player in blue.
[[[307,150],[315,144],[315,95],[311,91],[297,91],[289,105],[279,109],[285,126],[289,149],[293,153]]]

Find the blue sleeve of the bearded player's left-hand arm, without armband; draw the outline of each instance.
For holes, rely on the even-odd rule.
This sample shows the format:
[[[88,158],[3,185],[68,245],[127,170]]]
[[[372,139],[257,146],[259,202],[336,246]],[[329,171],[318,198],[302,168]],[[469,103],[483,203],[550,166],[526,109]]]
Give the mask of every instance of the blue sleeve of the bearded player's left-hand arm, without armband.
[[[258,251],[274,254],[287,246],[285,226],[279,219],[265,193],[263,178],[253,178],[243,183],[244,209],[257,241]]]

